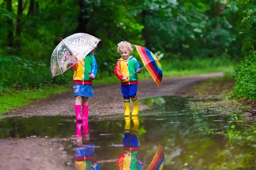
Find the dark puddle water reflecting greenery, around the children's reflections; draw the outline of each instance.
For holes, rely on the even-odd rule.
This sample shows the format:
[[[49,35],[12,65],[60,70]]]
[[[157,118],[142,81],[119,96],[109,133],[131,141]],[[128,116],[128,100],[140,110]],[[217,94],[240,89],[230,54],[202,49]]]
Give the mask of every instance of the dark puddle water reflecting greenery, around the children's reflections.
[[[252,130],[248,135],[255,134],[255,130],[253,130],[255,122],[240,122],[242,116],[238,121],[233,121],[225,112],[219,112],[212,106],[195,108],[191,106],[190,101],[189,98],[177,96],[142,100],[148,105],[148,110],[140,112],[140,125],[137,131],[139,134],[138,159],[142,158],[145,164],[150,164],[160,144],[165,154],[165,170],[255,169],[256,150],[255,147],[249,145],[250,143],[255,144],[253,138],[244,139],[243,142],[235,140],[233,144],[230,144],[227,136],[223,135],[232,125],[235,129],[233,129],[233,133],[230,131],[230,136],[236,135],[235,130],[239,129],[241,132],[244,130],[248,132],[249,125],[252,126]],[[95,118],[91,121],[92,119],[90,119],[88,122],[89,134],[87,134],[90,135],[89,143],[87,137],[83,136],[83,131],[86,130],[83,130],[81,124],[79,125],[81,128],[80,138],[75,138],[76,123],[73,122],[73,119],[74,117],[68,116],[3,118],[0,119],[0,139],[6,142],[7,140],[16,140],[10,140],[10,137],[37,136],[39,139],[61,142],[68,155],[67,162],[70,163],[67,168],[72,165],[72,168],[75,167],[76,147],[95,144],[93,158],[99,169],[118,170],[116,161],[117,157],[123,153],[124,130],[129,130],[126,126],[128,124],[125,125],[125,122],[128,122],[129,119],[124,119],[122,115],[104,120]],[[133,119],[130,119],[131,136],[132,132],[136,131]],[[213,130],[216,133],[209,135],[207,130],[209,132]],[[5,148],[0,147],[0,149]],[[141,170],[147,168],[145,164]]]

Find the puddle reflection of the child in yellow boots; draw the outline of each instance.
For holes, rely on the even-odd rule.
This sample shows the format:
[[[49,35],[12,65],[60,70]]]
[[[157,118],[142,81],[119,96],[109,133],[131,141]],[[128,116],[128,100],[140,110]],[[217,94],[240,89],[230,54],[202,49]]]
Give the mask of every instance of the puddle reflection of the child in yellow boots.
[[[125,130],[122,140],[122,153],[118,156],[117,166],[119,170],[140,170],[143,166],[143,159],[139,155],[139,125],[140,120],[138,116],[132,116],[134,124],[131,131],[131,118],[125,116]]]

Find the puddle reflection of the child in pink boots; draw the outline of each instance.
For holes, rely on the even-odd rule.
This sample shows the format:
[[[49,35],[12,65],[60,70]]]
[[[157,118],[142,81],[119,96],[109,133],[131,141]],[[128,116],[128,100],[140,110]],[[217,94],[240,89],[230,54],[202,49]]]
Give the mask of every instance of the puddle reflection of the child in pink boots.
[[[82,128],[81,128],[82,127]],[[76,123],[76,153],[75,163],[79,170],[99,170],[94,160],[95,144],[90,143],[88,122]]]

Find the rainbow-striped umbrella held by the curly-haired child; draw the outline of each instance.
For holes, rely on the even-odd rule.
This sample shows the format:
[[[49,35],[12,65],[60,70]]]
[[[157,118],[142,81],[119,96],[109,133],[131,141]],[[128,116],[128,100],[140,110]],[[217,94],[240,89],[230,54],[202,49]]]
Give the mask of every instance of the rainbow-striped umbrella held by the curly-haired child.
[[[159,87],[163,78],[162,66],[160,65],[159,59],[147,48],[139,45],[134,46],[137,48],[137,52],[139,53],[144,66]]]

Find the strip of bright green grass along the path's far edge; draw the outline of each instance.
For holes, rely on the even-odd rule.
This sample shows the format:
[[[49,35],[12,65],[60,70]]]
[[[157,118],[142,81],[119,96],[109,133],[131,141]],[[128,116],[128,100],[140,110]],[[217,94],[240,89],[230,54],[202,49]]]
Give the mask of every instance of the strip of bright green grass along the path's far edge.
[[[163,77],[174,77],[174,76],[187,76],[187,75],[197,75],[197,74],[207,74],[214,72],[224,72],[230,71],[233,67],[218,67],[218,68],[204,68],[204,69],[194,69],[194,70],[183,70],[183,71],[164,71]],[[140,79],[151,79],[150,74],[146,69],[143,69],[143,73],[139,74]],[[153,80],[152,80],[153,81]],[[114,75],[106,77],[97,77],[93,82],[93,85],[102,85],[110,83],[120,82]],[[26,89],[23,91],[16,91],[11,93],[10,90],[6,90],[5,94],[0,96],[0,113],[5,113],[12,111],[14,108],[27,105],[35,99],[45,99],[51,95],[63,93],[72,90],[72,83],[60,86],[60,85],[50,85],[37,89]]]

